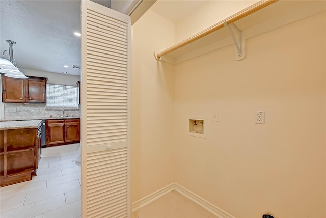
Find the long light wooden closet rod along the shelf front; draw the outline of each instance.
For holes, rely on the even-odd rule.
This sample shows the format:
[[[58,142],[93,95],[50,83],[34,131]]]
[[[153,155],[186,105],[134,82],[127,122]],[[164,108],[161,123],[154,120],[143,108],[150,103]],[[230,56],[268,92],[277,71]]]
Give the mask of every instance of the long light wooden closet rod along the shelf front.
[[[216,30],[219,30],[221,28],[224,27],[224,22],[226,22],[227,24],[231,24],[239,19],[242,19],[243,17],[246,17],[256,11],[259,11],[260,9],[262,8],[265,8],[266,6],[270,5],[270,4],[273,4],[275,2],[277,2],[278,0],[264,0],[264,1],[260,1],[258,2],[257,4],[253,5],[252,7],[250,8],[247,8],[241,12],[239,12],[238,14],[235,14],[233,15],[232,17],[229,17],[219,23],[216,23],[215,25],[212,25],[210,26],[209,28],[207,28],[206,30],[203,30],[201,32],[199,32],[198,34],[176,44],[176,45],[173,45],[159,53],[157,53],[156,57],[159,59],[160,57],[162,56],[165,56],[167,55],[168,53],[174,51],[174,50],[177,50],[178,48],[181,48],[189,43],[192,43],[204,36],[207,36],[208,34],[211,34],[212,32],[215,32]]]

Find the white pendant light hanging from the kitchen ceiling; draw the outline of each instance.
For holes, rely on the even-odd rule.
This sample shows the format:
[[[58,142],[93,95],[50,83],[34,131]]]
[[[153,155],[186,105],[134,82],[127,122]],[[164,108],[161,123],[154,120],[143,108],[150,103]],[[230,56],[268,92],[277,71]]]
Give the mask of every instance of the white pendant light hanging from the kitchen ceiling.
[[[12,47],[14,44],[16,44],[16,42],[9,39],[7,39],[6,42],[8,42],[9,44],[9,51],[4,50],[4,52],[2,53],[2,57],[0,58],[0,73],[12,78],[28,78],[22,72],[19,71],[16,64],[16,60],[14,59],[14,51]],[[5,58],[5,52],[9,53],[9,60]]]

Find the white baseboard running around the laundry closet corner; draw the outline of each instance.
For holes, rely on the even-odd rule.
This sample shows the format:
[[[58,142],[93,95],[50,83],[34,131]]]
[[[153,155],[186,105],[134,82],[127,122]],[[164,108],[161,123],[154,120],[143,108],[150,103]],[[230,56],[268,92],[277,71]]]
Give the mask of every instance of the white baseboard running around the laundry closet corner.
[[[186,198],[192,200],[193,202],[197,203],[198,205],[202,206],[215,216],[219,218],[235,218],[231,214],[225,212],[219,207],[211,204],[210,202],[206,201],[205,199],[201,198],[200,196],[196,195],[195,193],[191,192],[190,190],[182,187],[177,183],[171,183],[164,188],[157,190],[156,192],[136,201],[132,204],[132,211],[139,210],[140,208],[146,206],[147,204],[153,202],[154,200],[164,196],[165,194],[171,192],[172,190],[176,190],[181,195],[185,196]]]

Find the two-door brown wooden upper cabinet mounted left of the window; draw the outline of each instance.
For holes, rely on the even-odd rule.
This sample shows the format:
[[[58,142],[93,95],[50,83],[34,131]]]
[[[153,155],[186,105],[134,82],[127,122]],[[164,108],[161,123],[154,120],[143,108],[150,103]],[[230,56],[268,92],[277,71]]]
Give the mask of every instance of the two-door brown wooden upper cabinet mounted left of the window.
[[[2,101],[46,103],[47,78],[28,77],[28,79],[16,79],[2,76]]]

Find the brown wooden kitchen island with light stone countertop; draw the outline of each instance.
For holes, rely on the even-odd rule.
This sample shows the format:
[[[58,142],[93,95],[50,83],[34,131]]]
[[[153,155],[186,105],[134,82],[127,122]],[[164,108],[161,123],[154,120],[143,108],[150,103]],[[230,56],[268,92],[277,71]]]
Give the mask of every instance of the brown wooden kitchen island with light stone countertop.
[[[32,179],[41,158],[41,120],[0,122],[0,187]]]

